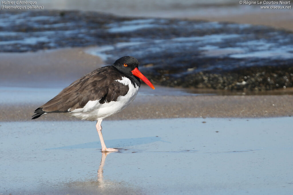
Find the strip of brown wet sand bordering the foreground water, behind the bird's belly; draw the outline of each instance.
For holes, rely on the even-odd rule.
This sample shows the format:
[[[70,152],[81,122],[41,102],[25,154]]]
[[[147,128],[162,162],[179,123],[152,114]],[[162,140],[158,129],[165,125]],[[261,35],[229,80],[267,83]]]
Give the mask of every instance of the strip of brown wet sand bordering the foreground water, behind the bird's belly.
[[[48,98],[47,100],[49,100]],[[149,96],[138,95],[122,112],[105,120],[153,118],[259,118],[293,115],[292,95],[253,96]],[[44,101],[45,103],[45,101]],[[1,105],[0,121],[27,121],[42,103]],[[36,120],[77,120],[47,114]]]

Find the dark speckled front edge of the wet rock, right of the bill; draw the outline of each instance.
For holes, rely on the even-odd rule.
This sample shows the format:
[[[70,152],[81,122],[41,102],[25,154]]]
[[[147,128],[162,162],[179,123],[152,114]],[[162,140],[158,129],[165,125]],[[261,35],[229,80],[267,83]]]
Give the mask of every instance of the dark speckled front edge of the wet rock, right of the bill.
[[[168,77],[165,74],[147,75],[154,83],[164,86],[265,91],[292,87],[292,66],[263,66],[234,69],[228,72],[199,72],[185,77]]]

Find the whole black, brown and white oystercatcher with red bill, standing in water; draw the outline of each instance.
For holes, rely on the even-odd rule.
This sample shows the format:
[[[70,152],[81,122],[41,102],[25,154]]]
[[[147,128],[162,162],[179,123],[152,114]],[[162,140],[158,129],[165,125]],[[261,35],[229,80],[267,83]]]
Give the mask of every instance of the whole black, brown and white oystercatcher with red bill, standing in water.
[[[37,108],[32,119],[47,113],[63,113],[81,120],[96,120],[102,151],[118,151],[106,147],[101,122],[122,111],[134,100],[140,87],[139,79],[155,89],[138,70],[137,59],[124,56],[113,65],[98,68],[71,83],[53,99]]]

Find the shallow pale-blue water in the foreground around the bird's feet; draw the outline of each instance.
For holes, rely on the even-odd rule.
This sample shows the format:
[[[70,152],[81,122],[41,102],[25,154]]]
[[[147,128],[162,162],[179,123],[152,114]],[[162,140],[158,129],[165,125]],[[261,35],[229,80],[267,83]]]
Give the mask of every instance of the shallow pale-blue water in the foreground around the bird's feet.
[[[203,123],[204,122],[204,123]],[[0,194],[291,194],[292,118],[2,122]]]

